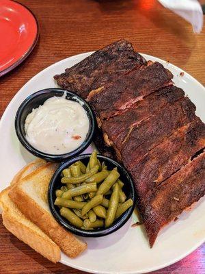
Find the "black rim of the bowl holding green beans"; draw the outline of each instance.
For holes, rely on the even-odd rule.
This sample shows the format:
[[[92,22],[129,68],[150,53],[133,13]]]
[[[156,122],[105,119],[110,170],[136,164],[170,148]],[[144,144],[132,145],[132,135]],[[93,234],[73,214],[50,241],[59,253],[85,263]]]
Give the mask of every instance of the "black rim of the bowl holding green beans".
[[[61,226],[63,226],[66,230],[68,230],[69,232],[72,232],[73,234],[76,234],[78,236],[83,236],[83,237],[102,237],[102,236],[106,236],[106,235],[111,234],[111,233],[115,232],[116,230],[120,229],[120,227],[122,227],[128,221],[128,219],[133,214],[133,210],[135,209],[135,204],[136,204],[135,187],[134,187],[133,181],[131,179],[131,176],[128,174],[128,171],[126,171],[126,169],[124,168],[124,166],[122,166],[122,164],[116,162],[115,160],[113,160],[107,156],[100,155],[100,154],[97,155],[98,158],[100,158],[102,160],[107,160],[107,161],[111,162],[112,164],[115,164],[115,166],[118,167],[118,170],[120,170],[119,172],[120,173],[123,172],[124,175],[126,175],[126,177],[128,178],[128,182],[131,185],[131,199],[133,199],[133,206],[131,206],[131,208],[128,208],[128,210],[126,210],[126,212],[124,212],[124,214],[119,218],[118,222],[115,223],[114,225],[111,225],[111,227],[107,227],[107,228],[101,229],[99,231],[93,231],[93,230],[79,229],[77,227],[74,227],[73,225],[70,225],[68,222],[64,221],[64,219],[57,212],[57,210],[55,210],[54,201],[53,201],[53,197],[52,197],[53,186],[55,184],[55,180],[57,179],[57,176],[59,175],[59,173],[61,173],[61,171],[66,166],[68,166],[74,162],[77,162],[78,160],[83,160],[85,158],[88,158],[88,157],[90,157],[90,155],[91,155],[91,153],[79,155],[75,158],[72,158],[72,159],[62,163],[57,168],[57,170],[53,174],[53,177],[51,178],[51,181],[49,184],[49,189],[48,189],[49,208],[50,208],[51,213],[53,214],[54,218],[56,219],[56,221]]]

